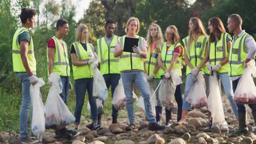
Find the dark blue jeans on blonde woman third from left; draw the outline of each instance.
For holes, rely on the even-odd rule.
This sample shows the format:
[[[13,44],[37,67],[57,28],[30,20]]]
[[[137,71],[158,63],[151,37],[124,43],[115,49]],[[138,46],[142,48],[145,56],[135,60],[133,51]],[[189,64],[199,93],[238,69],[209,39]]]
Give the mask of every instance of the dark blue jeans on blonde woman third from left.
[[[76,95],[76,103],[75,103],[75,125],[79,125],[81,113],[84,105],[84,97],[87,89],[89,103],[91,106],[91,117],[94,123],[97,123],[97,104],[96,99],[92,97],[92,89],[94,86],[94,78],[86,78],[86,79],[78,79],[75,80],[75,95]]]

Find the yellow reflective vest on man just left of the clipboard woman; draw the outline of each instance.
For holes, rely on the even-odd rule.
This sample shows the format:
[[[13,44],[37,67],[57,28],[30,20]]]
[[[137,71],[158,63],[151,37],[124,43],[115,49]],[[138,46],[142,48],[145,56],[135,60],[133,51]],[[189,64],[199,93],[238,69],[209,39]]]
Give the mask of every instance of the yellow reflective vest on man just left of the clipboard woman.
[[[98,57],[101,64],[101,74],[120,74],[119,57],[114,57],[115,44],[117,43],[118,36],[114,35],[109,47],[105,38],[97,39]]]

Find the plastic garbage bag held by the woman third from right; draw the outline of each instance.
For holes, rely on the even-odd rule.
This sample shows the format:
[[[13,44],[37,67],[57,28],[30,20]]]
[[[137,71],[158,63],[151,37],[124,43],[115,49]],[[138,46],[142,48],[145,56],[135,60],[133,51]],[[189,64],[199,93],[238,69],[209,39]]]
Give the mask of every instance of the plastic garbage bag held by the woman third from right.
[[[191,87],[187,101],[196,109],[199,107],[203,107],[207,105],[207,97],[205,93],[205,79],[203,79],[203,72],[199,71],[198,75],[196,76],[196,81]]]

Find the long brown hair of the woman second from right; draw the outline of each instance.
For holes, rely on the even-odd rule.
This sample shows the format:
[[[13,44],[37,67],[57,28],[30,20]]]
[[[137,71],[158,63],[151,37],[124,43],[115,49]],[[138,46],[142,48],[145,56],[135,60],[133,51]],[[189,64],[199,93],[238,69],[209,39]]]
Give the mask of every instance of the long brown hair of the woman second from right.
[[[225,28],[223,26],[222,20],[218,17],[212,17],[209,20],[209,23],[212,25],[212,32],[210,33],[209,41],[212,43],[214,40],[219,40],[222,33],[225,33]]]

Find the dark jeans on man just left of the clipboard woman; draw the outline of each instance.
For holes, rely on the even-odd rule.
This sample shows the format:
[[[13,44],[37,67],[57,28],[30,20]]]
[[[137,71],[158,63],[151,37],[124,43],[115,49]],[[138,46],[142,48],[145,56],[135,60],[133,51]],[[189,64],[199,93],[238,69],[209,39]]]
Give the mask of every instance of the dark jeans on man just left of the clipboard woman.
[[[118,85],[118,82],[120,80],[120,74],[105,74],[103,75],[104,80],[106,82],[107,88],[111,86],[111,98],[113,98],[115,88]],[[102,104],[104,101],[102,101]],[[115,109],[114,105],[112,105],[112,117],[118,117],[118,110]]]

